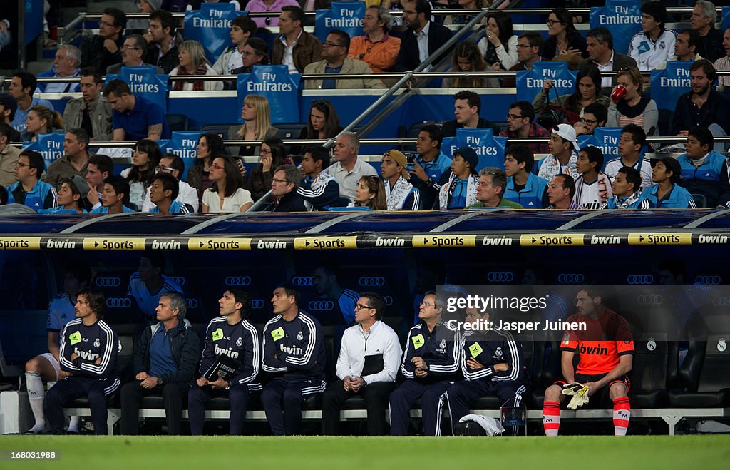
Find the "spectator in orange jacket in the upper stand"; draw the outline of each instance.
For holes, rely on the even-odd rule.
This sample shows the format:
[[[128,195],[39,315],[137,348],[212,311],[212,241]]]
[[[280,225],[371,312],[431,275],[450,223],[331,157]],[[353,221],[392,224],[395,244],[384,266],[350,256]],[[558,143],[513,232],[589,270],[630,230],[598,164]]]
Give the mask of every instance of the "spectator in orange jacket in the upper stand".
[[[376,74],[390,71],[401,49],[401,39],[388,35],[392,26],[393,15],[388,9],[369,7],[363,18],[365,36],[353,37],[348,55],[367,63]]]

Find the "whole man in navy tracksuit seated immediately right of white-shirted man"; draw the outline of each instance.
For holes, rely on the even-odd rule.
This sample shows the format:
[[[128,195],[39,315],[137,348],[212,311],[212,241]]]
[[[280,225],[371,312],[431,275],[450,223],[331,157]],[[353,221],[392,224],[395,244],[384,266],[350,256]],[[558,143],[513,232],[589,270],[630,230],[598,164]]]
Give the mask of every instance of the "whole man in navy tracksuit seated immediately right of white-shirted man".
[[[407,436],[410,410],[418,398],[423,434],[437,435],[437,408],[458,373],[458,334],[442,323],[442,301],[430,291],[423,296],[418,322],[408,333],[401,362],[406,381],[391,393],[391,436]]]

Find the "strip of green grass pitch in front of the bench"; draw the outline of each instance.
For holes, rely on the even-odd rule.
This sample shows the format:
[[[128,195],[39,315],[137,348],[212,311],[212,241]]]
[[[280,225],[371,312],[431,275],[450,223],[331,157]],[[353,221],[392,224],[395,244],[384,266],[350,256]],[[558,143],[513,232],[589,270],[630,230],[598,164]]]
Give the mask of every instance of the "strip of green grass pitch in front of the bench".
[[[54,450],[55,461],[0,469],[583,470],[727,469],[730,436],[495,438],[1,436],[0,450]]]

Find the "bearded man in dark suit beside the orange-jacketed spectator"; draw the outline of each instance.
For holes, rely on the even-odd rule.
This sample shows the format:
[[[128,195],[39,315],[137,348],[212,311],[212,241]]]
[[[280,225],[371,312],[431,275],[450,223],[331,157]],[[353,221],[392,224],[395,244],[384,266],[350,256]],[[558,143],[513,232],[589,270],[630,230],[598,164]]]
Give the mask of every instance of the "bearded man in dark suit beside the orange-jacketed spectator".
[[[446,26],[431,21],[431,4],[428,0],[402,0],[403,24],[408,27],[401,40],[401,50],[396,59],[395,70],[415,70],[431,54],[451,39]],[[439,57],[434,63],[442,60]],[[423,72],[429,72],[429,65]]]

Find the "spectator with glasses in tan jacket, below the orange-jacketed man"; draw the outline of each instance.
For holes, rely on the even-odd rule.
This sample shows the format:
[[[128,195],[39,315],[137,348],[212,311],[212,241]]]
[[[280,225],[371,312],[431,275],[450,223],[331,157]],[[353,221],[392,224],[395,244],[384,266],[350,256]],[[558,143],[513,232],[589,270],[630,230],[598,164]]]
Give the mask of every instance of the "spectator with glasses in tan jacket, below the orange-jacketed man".
[[[372,74],[370,67],[358,59],[347,57],[350,50],[350,35],[345,31],[333,29],[327,35],[321,61],[312,62],[304,67],[305,74]],[[385,88],[377,78],[353,78],[347,80],[307,80],[307,89],[339,90],[350,88]]]

